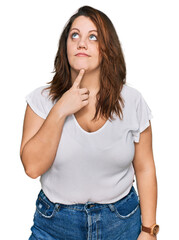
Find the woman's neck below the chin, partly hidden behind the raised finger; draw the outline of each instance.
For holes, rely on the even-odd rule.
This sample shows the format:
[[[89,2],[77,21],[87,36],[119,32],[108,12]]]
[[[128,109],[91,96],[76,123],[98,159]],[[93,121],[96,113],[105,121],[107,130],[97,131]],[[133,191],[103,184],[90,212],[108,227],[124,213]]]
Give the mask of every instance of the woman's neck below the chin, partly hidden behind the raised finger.
[[[71,69],[71,81],[74,83],[79,71]],[[94,71],[86,71],[80,83],[80,88],[87,88],[90,91],[90,95],[96,94],[100,89],[100,71],[99,69]]]

